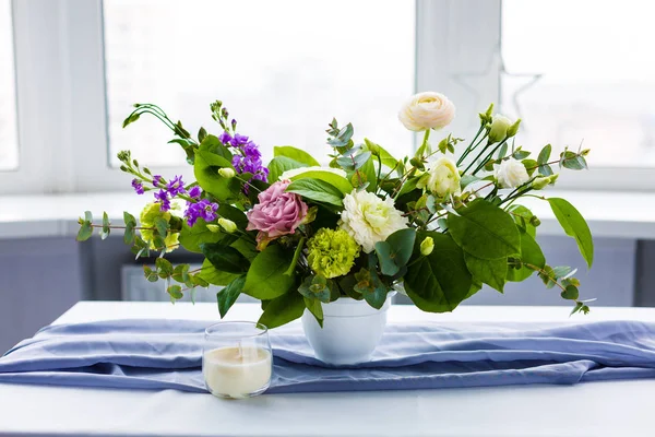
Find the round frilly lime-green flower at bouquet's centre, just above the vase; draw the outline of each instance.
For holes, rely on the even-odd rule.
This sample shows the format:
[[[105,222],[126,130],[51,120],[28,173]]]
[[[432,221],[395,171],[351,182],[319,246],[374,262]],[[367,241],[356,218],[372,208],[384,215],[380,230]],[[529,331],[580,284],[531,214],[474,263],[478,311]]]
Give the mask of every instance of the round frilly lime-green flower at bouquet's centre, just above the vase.
[[[359,256],[359,245],[343,229],[321,228],[307,247],[309,267],[327,279],[347,274]]]

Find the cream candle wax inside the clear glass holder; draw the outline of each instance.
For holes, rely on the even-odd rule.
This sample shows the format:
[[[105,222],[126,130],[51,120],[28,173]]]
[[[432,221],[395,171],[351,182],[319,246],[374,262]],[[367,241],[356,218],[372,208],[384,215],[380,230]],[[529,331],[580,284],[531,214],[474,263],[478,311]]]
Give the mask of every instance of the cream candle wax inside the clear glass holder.
[[[215,395],[246,398],[271,380],[271,353],[261,347],[219,347],[204,353],[202,371]]]

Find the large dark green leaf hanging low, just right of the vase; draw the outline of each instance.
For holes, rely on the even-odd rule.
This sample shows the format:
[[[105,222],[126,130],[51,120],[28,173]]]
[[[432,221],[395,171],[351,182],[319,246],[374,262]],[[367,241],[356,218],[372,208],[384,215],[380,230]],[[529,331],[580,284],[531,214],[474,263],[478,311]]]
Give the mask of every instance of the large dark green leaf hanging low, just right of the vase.
[[[420,256],[420,244],[432,237],[434,250]],[[409,263],[405,274],[405,291],[414,304],[424,311],[452,311],[468,297],[473,277],[464,261],[464,251],[448,234],[419,233],[414,247],[416,262]]]

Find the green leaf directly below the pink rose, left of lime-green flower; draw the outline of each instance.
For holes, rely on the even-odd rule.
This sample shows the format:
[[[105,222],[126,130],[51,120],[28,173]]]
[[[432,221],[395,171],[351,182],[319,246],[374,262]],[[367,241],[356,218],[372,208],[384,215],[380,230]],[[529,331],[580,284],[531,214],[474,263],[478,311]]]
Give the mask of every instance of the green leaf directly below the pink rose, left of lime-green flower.
[[[295,275],[284,274],[293,256],[290,250],[285,250],[279,245],[269,245],[252,261],[243,293],[260,300],[274,299],[287,293],[296,282]],[[298,294],[296,291],[294,293]]]

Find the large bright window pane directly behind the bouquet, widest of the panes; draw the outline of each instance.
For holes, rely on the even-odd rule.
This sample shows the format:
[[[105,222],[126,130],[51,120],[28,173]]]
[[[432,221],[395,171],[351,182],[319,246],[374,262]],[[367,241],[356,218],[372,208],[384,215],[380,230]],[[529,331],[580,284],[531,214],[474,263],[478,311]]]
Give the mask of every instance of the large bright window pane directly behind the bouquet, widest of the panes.
[[[209,110],[219,98],[264,157],[290,144],[325,158],[332,117],[359,140],[413,146],[396,114],[415,87],[414,2],[105,0],[104,27],[114,166],[123,149],[151,165],[183,162],[156,120],[122,130],[135,102],[219,132]]]

